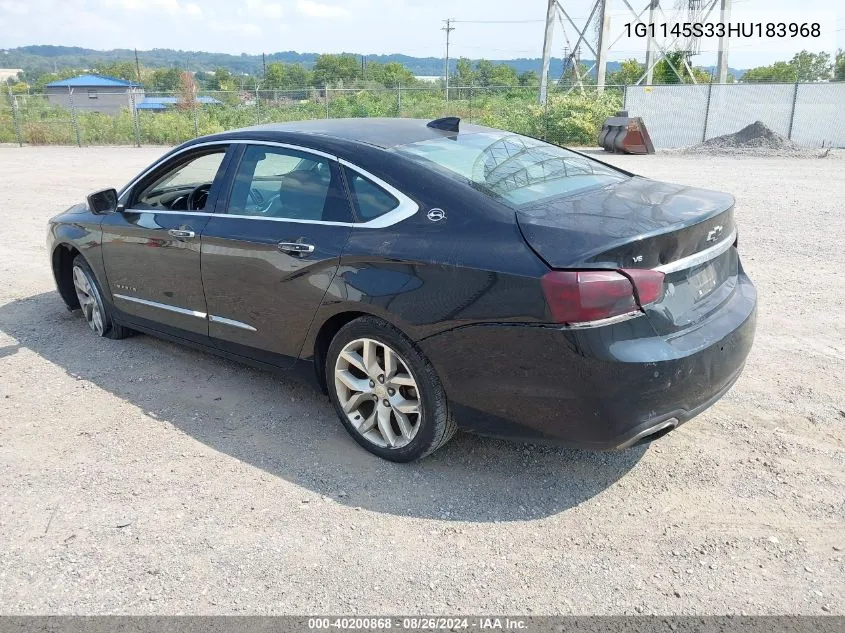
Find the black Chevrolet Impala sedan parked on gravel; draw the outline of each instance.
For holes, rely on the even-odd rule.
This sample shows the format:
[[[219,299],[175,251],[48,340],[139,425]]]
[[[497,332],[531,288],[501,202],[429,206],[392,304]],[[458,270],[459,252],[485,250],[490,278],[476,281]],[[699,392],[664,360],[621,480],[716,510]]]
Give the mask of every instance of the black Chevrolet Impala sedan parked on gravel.
[[[730,195],[456,118],[198,138],[49,227],[95,334],[313,366],[394,461],[458,427],[619,449],[689,420],[754,337],[737,245]]]

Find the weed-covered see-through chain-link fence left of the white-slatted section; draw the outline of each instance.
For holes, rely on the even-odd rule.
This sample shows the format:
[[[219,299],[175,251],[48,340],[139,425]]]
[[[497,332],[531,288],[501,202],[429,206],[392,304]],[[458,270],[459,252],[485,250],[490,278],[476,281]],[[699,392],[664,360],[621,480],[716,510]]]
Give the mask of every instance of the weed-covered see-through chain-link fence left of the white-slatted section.
[[[536,88],[437,86],[390,89],[307,88],[195,95],[129,91],[98,95],[9,94],[0,101],[0,143],[26,145],[173,145],[262,123],[346,117],[462,120],[546,138],[592,145],[602,121],[622,106],[624,88],[560,89],[537,103]]]

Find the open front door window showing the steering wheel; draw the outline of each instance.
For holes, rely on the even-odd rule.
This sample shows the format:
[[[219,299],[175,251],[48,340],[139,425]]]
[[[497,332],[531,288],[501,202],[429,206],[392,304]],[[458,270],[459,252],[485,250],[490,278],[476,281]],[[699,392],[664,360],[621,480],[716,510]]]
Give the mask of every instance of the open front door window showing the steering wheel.
[[[132,204],[134,209],[202,211],[211,184],[217,177],[226,148],[214,149],[179,161],[164,174],[143,185]]]

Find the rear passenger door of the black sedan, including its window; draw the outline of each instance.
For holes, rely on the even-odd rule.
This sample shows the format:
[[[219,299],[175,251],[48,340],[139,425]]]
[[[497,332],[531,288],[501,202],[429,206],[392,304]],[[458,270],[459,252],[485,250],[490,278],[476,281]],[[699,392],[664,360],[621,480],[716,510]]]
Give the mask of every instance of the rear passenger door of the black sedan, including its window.
[[[326,154],[247,144],[202,235],[212,342],[293,364],[352,226],[339,165]]]

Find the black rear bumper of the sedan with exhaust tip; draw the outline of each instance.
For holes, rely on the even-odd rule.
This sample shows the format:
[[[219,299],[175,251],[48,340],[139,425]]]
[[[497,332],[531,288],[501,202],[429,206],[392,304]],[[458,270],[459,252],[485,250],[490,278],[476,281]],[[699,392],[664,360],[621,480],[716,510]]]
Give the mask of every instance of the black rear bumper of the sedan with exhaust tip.
[[[656,335],[642,316],[582,330],[472,325],[419,344],[462,428],[613,450],[665,434],[731,388],[754,339],[756,304],[740,273],[719,311],[679,335]]]

